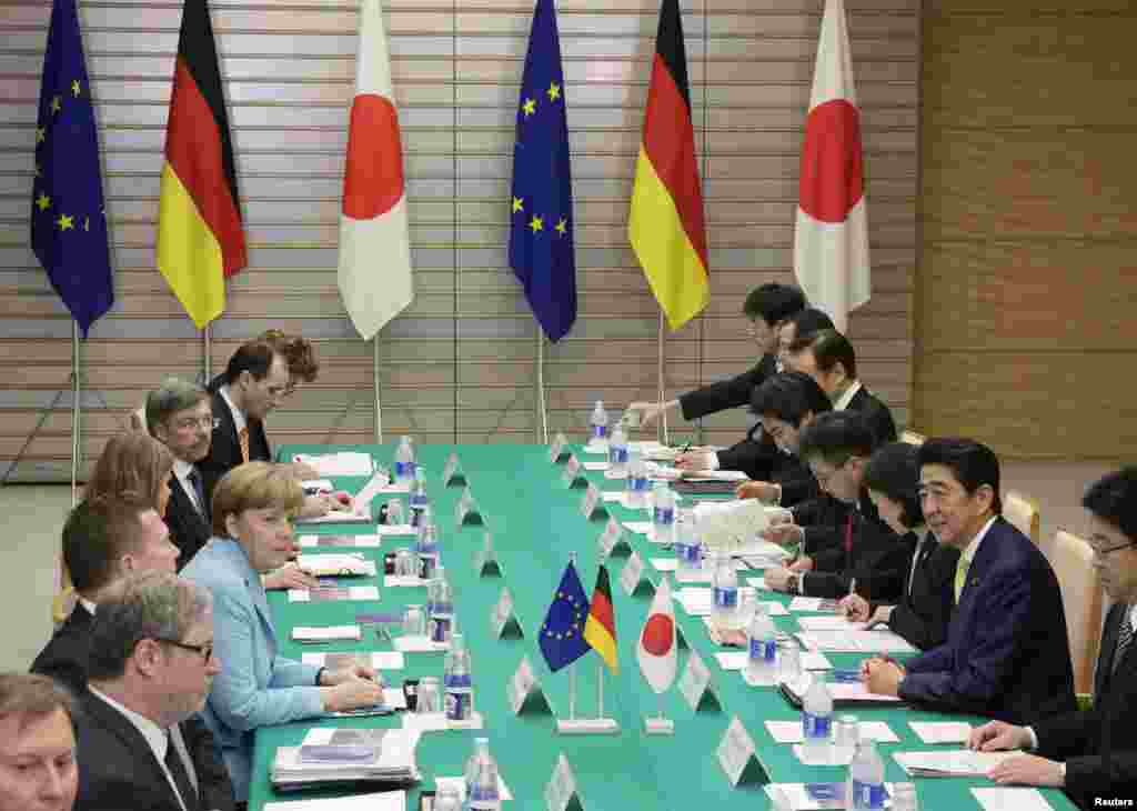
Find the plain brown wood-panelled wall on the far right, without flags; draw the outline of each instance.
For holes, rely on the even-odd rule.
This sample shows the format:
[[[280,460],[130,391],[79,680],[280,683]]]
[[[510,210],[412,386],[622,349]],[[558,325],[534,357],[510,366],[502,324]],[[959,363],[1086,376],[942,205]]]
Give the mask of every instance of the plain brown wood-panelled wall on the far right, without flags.
[[[926,5],[920,431],[1137,454],[1135,32],[1124,0]]]

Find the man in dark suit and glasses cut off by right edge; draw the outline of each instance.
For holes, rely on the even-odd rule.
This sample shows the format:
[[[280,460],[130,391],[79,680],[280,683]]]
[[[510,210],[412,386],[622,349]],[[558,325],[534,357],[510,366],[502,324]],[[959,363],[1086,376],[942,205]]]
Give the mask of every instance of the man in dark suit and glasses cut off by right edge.
[[[1094,566],[1114,601],[1105,618],[1094,677],[1094,704],[1034,727],[991,721],[971,746],[1032,750],[990,772],[997,783],[1062,786],[1082,809],[1137,797],[1137,467],[1101,479],[1082,499],[1090,514]]]

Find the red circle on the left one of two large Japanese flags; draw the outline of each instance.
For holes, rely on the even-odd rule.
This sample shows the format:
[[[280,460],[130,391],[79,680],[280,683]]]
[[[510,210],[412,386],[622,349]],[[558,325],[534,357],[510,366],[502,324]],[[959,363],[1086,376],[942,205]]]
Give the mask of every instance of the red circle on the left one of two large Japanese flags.
[[[402,197],[399,116],[390,99],[374,93],[351,102],[343,213],[356,220],[385,214]]]

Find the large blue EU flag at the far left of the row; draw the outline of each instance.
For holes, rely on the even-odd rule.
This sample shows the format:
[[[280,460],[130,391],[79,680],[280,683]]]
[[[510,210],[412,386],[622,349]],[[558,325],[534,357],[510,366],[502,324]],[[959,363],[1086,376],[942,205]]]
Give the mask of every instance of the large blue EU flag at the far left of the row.
[[[83,337],[115,303],[99,140],[75,0],[55,0],[35,123],[32,250]]]

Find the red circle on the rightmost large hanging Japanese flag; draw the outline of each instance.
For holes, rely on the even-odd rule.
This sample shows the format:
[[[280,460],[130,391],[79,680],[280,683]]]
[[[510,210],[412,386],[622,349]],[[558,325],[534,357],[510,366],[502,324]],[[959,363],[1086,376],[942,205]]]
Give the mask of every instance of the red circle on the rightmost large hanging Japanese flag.
[[[864,196],[861,115],[845,99],[818,105],[805,122],[802,210],[823,223],[843,223]]]

